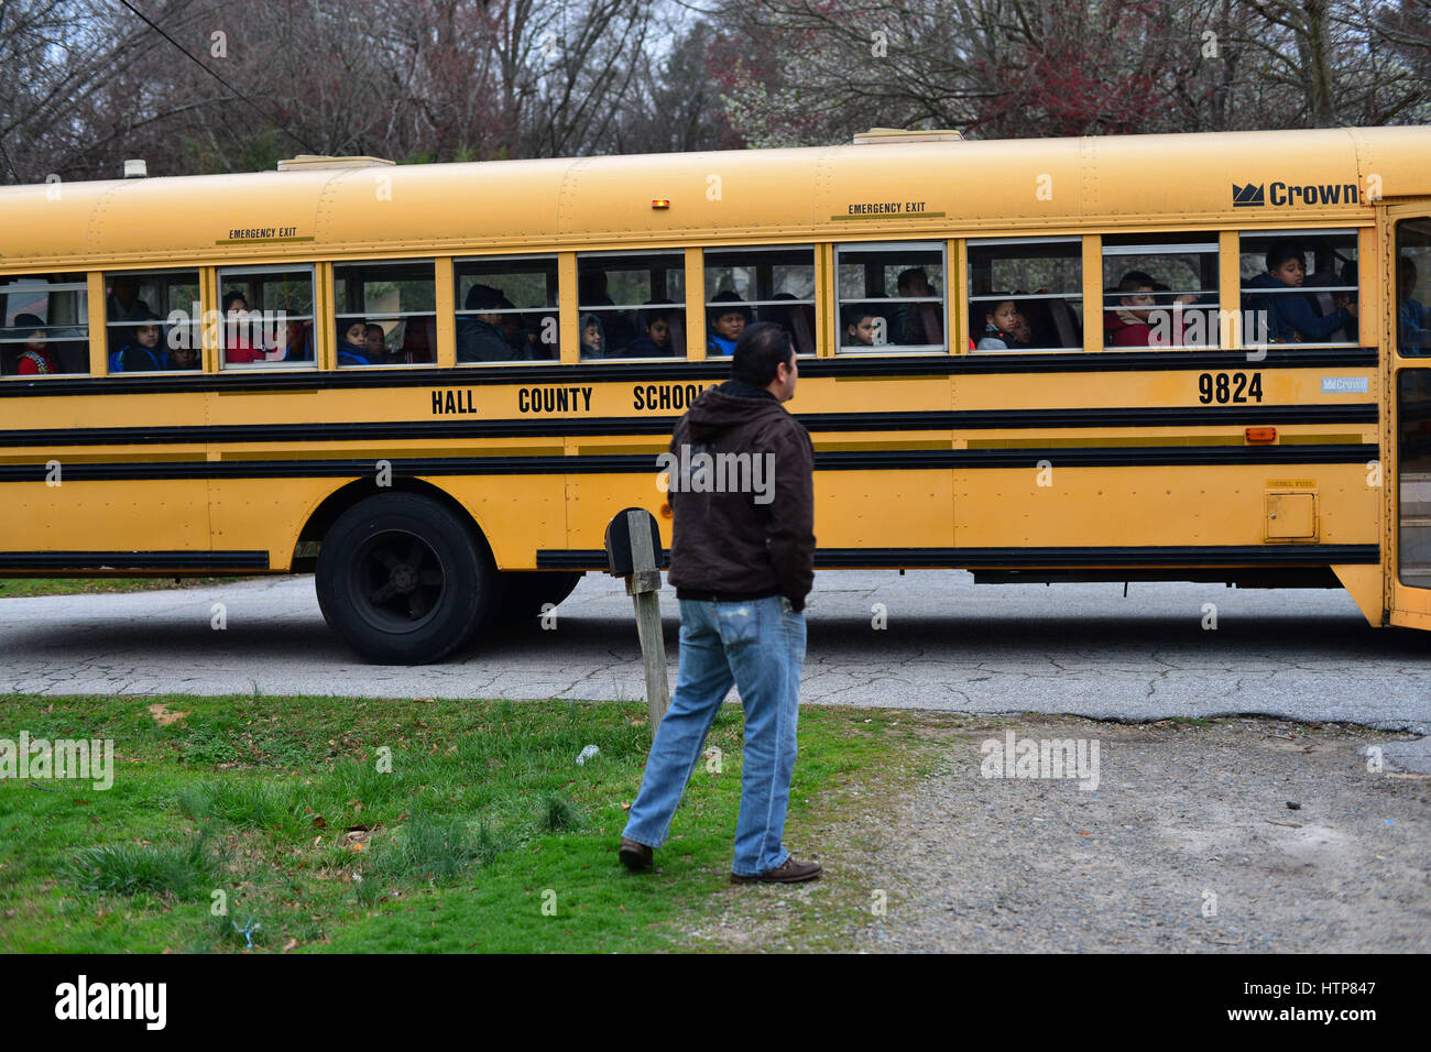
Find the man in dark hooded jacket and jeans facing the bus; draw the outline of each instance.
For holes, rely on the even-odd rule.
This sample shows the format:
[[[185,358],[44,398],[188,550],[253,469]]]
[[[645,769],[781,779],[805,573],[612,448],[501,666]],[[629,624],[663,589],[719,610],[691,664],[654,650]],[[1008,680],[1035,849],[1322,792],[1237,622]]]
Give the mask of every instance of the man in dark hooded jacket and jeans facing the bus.
[[[736,344],[733,379],[703,392],[675,425],[671,454],[683,468],[670,482],[670,581],[681,605],[681,670],[621,836],[628,869],[653,865],[734,683],[746,710],[746,756],[731,882],[820,876],[819,863],[796,862],[781,843],[804,598],[814,583],[814,449],[780,405],[794,396],[797,375],[790,333],[751,325]]]

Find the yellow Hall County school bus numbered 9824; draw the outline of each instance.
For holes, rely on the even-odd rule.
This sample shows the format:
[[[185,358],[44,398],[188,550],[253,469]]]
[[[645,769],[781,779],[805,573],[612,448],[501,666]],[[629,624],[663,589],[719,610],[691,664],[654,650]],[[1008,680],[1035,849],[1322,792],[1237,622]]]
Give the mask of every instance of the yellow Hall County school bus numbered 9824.
[[[3,187],[0,571],[316,571],[352,647],[438,660],[604,568],[620,510],[668,544],[655,458],[771,321],[820,568],[1427,628],[1428,282],[1412,127]]]

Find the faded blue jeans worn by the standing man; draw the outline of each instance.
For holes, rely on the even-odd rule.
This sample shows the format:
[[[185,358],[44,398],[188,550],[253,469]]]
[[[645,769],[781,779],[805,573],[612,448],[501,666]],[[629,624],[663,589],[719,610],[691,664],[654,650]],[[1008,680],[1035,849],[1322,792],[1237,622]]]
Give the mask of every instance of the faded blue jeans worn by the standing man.
[[[746,710],[746,756],[731,872],[758,876],[790,857],[780,843],[796,769],[804,614],[778,595],[681,600],[681,670],[622,836],[660,847],[731,683]]]

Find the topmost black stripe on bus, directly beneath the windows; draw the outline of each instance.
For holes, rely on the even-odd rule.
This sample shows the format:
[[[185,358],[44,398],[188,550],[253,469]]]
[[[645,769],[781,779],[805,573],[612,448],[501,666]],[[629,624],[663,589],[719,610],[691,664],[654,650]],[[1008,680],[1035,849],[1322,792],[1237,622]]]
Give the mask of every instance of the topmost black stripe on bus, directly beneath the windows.
[[[803,376],[947,376],[987,372],[1161,372],[1178,369],[1374,368],[1377,348],[1271,346],[1261,361],[1245,351],[1053,351],[1047,354],[881,355],[803,358]],[[6,379],[0,398],[124,395],[197,391],[338,391],[353,388],[462,388],[505,384],[571,385],[728,379],[730,362],[578,362],[416,369],[293,369],[162,376],[74,376]]]

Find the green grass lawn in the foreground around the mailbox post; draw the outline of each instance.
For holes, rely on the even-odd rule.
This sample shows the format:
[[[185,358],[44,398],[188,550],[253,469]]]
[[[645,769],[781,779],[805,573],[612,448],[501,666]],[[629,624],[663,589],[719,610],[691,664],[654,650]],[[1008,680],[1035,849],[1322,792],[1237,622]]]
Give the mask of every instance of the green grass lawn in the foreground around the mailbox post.
[[[155,701],[187,716],[160,727]],[[0,696],[0,737],[20,730],[113,739],[114,784],[0,781],[6,952],[705,949],[687,933],[760,893],[728,883],[733,706],[723,770],[697,767],[643,875],[615,857],[641,704]],[[790,843],[912,744],[889,714],[803,710]]]

